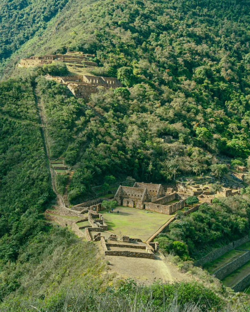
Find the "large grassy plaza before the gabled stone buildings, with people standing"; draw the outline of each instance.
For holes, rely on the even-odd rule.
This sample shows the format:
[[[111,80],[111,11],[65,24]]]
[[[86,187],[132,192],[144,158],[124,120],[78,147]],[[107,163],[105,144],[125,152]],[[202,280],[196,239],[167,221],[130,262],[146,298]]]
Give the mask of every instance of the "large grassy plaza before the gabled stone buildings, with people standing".
[[[108,210],[103,210],[101,213],[109,231],[118,236],[128,235],[131,238],[140,238],[142,241],[146,241],[172,217],[130,207],[116,207],[113,213],[108,213]]]

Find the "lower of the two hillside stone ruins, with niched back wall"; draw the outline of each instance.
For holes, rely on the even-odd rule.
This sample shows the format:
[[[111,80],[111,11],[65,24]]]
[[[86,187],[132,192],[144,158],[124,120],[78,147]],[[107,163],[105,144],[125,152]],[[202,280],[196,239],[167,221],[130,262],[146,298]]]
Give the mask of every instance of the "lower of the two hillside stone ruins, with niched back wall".
[[[92,93],[98,92],[98,87],[103,87],[105,90],[116,89],[123,85],[117,78],[101,77],[101,76],[51,76],[45,75],[47,80],[54,80],[64,85],[75,95],[75,97],[88,100]]]

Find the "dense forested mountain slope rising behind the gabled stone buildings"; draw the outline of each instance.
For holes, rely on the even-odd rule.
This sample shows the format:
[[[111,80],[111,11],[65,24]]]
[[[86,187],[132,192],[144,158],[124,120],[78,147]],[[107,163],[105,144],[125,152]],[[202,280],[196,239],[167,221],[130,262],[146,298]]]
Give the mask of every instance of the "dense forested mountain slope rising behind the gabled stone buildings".
[[[102,9],[98,3],[68,2],[20,52],[95,53],[100,67],[92,73],[117,76],[129,90],[100,91],[86,109],[63,87],[49,90],[53,82],[39,80],[44,101],[50,97],[48,117],[53,112],[52,153],[59,156],[68,145],[67,163],[86,176],[74,175],[72,202],[88,196],[86,184],[101,184],[105,173],[172,183],[209,171],[217,154],[244,163],[250,154],[248,2],[105,1]],[[60,134],[53,130],[58,123]],[[176,143],[163,147],[162,135]]]

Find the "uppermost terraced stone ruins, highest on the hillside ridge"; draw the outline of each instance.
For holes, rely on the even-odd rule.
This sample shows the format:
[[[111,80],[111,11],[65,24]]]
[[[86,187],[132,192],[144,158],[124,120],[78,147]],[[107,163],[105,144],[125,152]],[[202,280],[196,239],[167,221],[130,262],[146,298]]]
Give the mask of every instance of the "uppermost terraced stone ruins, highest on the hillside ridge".
[[[81,52],[68,52],[67,54],[50,54],[44,56],[31,56],[20,60],[18,67],[34,67],[53,62],[67,63],[68,66],[98,66],[96,62],[89,61],[89,57],[94,57],[94,54],[83,54]]]

